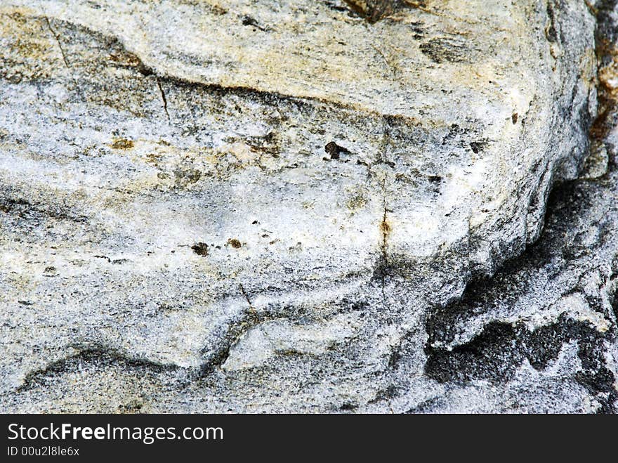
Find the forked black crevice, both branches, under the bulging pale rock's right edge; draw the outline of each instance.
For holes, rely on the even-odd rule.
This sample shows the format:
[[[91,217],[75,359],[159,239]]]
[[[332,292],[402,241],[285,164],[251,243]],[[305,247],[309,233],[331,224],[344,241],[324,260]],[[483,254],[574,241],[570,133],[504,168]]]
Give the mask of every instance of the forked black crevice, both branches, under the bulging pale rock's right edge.
[[[516,304],[530,289],[528,282],[535,278],[537,269],[555,265],[556,260],[567,266],[569,261],[579,259],[583,253],[596,252],[607,233],[599,235],[599,243],[590,244],[585,237],[579,239],[572,227],[595,207],[602,194],[599,191],[607,188],[603,185],[600,181],[570,181],[559,185],[548,200],[548,226],[536,243],[521,256],[506,261],[493,277],[472,280],[459,299],[431,311],[426,320],[428,377],[440,382],[466,383],[474,379],[508,382],[523,360],[527,359],[532,367],[543,370],[558,357],[565,343],[577,341],[582,363],[577,381],[598,395],[601,411],[615,410],[614,376],[603,357],[604,342],[615,339],[615,323],[609,332],[602,334],[591,325],[574,322],[565,315],[532,332],[522,323],[511,325],[496,321],[487,323],[473,339],[455,346],[452,351],[444,347],[463,334],[463,327],[478,315],[497,306]],[[602,223],[593,223],[593,226],[603,228]],[[609,280],[612,280],[611,275]],[[580,291],[577,285],[572,292]],[[605,314],[599,301],[590,297],[586,300],[593,310]]]

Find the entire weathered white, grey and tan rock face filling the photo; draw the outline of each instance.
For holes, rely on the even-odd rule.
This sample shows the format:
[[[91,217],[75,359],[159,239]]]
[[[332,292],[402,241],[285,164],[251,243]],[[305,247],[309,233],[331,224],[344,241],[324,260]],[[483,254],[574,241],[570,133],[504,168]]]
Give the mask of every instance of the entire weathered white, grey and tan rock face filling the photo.
[[[3,2],[2,409],[614,410],[600,6]]]

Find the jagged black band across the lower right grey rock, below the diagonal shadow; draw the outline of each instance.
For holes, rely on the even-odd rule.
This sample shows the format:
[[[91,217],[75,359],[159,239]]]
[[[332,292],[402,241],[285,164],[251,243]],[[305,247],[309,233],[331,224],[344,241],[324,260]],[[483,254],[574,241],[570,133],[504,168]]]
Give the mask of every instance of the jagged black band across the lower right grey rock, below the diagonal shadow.
[[[486,379],[508,382],[524,360],[544,370],[570,341],[577,341],[581,370],[575,379],[593,395],[603,412],[617,412],[616,378],[605,365],[605,342],[613,334],[601,334],[591,325],[561,315],[557,322],[529,331],[523,323],[490,322],[470,341],[452,349],[435,348],[435,333],[428,328],[425,373],[438,382],[467,383]]]

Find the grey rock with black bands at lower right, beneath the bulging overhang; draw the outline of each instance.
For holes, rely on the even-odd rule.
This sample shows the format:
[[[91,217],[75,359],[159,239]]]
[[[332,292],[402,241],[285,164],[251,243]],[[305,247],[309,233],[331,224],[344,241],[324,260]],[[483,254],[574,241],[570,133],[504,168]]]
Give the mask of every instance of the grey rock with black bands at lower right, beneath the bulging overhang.
[[[446,388],[413,410],[616,412],[618,171],[549,207],[539,242],[428,318],[425,371]]]

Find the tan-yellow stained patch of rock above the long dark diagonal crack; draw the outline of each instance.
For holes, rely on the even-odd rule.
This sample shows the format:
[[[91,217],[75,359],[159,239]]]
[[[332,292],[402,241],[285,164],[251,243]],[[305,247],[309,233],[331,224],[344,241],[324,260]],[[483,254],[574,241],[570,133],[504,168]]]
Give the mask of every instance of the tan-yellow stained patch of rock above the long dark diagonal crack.
[[[258,5],[254,15],[260,24],[265,25],[264,31],[254,28],[254,32],[251,27],[240,27],[233,38],[224,31],[226,28],[237,27],[237,18],[230,13],[221,14],[221,8],[232,11],[236,4],[229,2],[225,5],[204,6],[204,14],[199,16],[199,22],[186,22],[183,26],[185,35],[169,37],[164,48],[155,44],[155,36],[146,34],[142,30],[143,26],[134,24],[131,16],[126,16],[122,11],[107,15],[107,10],[95,10],[88,4],[79,4],[70,14],[59,13],[57,19],[72,20],[110,37],[119,34],[119,39],[127,44],[130,52],[124,57],[116,56],[115,52],[110,53],[107,59],[121,66],[138,65],[138,60],[141,60],[159,74],[175,75],[190,81],[317,98],[360,110],[407,117],[418,117],[407,100],[410,91],[424,91],[418,88],[418,83],[426,80],[426,77],[421,79],[419,71],[426,67],[428,58],[419,46],[436,38],[445,40],[460,37],[459,41],[465,40],[465,46],[461,48],[465,56],[456,63],[441,63],[442,69],[430,73],[433,74],[430,79],[435,89],[461,86],[461,91],[469,93],[487,91],[485,85],[479,85],[471,79],[471,74],[478,72],[478,53],[485,56],[484,67],[489,65],[504,73],[504,60],[489,58],[492,56],[492,44],[499,44],[500,49],[505,50],[510,45],[528,40],[525,27],[513,20],[521,14],[516,5],[505,6],[513,9],[511,14],[499,9],[487,11],[491,20],[480,22],[476,18],[478,5],[475,2],[442,0],[432,1],[430,5],[420,1],[360,2],[361,9],[374,8],[382,12],[397,10],[396,22],[377,22],[371,29],[362,27],[343,12],[329,13],[333,15],[332,20],[320,24],[312,22],[310,16],[281,20],[282,17],[287,18],[287,7],[277,7],[281,8],[280,11],[271,6]],[[160,14],[157,13],[156,4],[145,4],[140,8],[152,13],[151,20],[157,22]],[[312,8],[326,7],[315,4]],[[428,15],[428,8],[440,13],[442,19]],[[5,9],[14,11],[10,7]],[[409,32],[410,25],[416,23],[421,24],[419,27],[425,34],[419,41],[414,41]],[[152,30],[158,26],[153,23],[148,27]],[[268,40],[270,45],[254,46],[256,34],[261,40]],[[346,39],[341,41],[337,37]],[[209,45],[215,43],[213,40],[218,43],[216,49]],[[296,41],[310,43],[311,47],[305,49],[292,46]],[[183,46],[178,48],[180,44]],[[388,51],[388,63],[371,58],[376,49]],[[319,52],[316,53],[316,50]],[[441,53],[439,49],[438,53]],[[445,53],[450,52],[445,50]],[[287,58],[281,60],[282,55]],[[136,58],[138,56],[140,58]],[[161,61],[157,56],[166,58]],[[211,63],[204,68],[206,74],[196,67],[195,63],[198,62]],[[232,68],[234,72],[228,72]],[[397,69],[395,77],[391,69]],[[483,78],[487,80],[485,76]],[[383,100],[387,93],[389,98]],[[381,96],[378,98],[379,94]],[[500,93],[493,93],[490,97],[500,98]],[[119,107],[119,102],[111,96],[107,101]],[[137,110],[132,111],[137,113]]]

